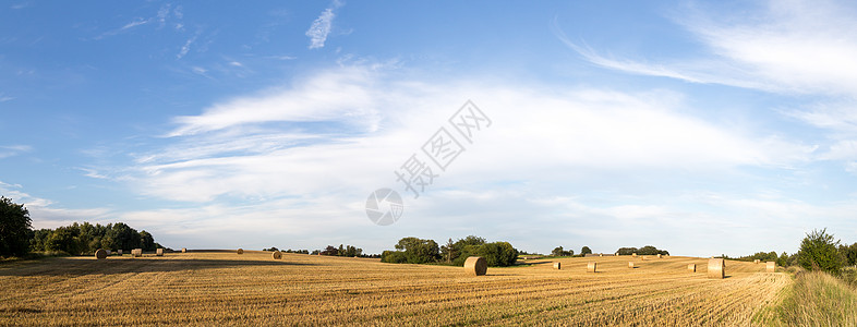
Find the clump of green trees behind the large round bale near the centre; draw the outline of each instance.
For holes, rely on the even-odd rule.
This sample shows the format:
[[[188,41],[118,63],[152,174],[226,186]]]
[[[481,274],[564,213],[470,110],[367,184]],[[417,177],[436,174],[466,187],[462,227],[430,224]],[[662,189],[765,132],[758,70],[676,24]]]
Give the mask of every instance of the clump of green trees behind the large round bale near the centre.
[[[382,263],[390,264],[448,264],[463,266],[470,256],[484,257],[491,267],[506,267],[515,265],[518,259],[518,250],[509,242],[491,242],[485,239],[469,235],[452,242],[450,238],[446,244],[438,245],[434,240],[419,238],[403,238],[395,245],[396,251],[384,251],[381,254]]]

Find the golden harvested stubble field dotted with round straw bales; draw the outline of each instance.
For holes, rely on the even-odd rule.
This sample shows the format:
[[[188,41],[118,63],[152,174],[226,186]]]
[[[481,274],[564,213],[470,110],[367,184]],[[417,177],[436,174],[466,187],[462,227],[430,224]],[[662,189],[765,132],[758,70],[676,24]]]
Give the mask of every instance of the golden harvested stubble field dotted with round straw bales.
[[[531,265],[480,277],[461,267],[303,254],[274,261],[255,251],[5,263],[0,325],[746,326],[793,283],[764,264],[733,261],[726,279],[708,279],[705,258],[520,262]],[[599,272],[586,272],[588,262]]]

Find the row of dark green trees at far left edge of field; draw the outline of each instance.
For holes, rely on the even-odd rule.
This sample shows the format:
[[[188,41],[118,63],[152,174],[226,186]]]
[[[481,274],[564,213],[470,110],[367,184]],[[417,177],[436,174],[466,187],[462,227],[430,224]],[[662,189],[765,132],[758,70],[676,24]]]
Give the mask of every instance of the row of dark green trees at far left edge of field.
[[[21,257],[29,252],[87,255],[98,249],[155,251],[164,247],[149,232],[137,231],[122,222],[106,226],[74,222],[39,230],[33,230],[32,222],[24,205],[0,197],[0,256]]]

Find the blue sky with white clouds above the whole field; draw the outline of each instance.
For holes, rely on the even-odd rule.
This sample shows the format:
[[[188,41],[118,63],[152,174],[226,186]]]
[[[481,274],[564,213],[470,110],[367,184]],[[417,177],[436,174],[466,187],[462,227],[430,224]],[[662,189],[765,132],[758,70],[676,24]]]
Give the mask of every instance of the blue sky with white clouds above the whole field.
[[[857,8],[836,1],[12,1],[0,193],[171,247],[674,254],[857,241]],[[468,100],[492,125],[413,198]],[[374,225],[390,187],[405,213]]]

